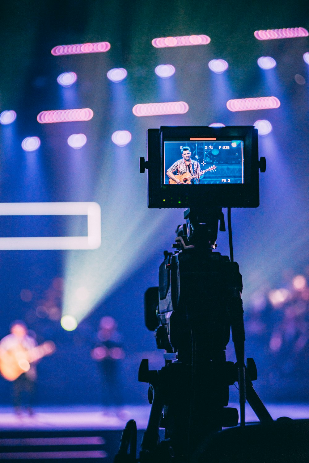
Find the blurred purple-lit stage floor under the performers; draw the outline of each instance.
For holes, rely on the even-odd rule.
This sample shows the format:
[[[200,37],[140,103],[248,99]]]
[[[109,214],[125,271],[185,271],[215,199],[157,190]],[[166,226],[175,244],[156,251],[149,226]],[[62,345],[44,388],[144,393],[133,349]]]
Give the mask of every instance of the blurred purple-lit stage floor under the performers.
[[[273,419],[288,416],[309,418],[309,404],[265,404]],[[230,403],[229,407],[238,407]],[[33,416],[14,413],[12,407],[0,408],[0,431],[4,430],[122,430],[129,419],[135,419],[138,429],[145,429],[150,405],[123,407],[36,407]],[[246,404],[246,422],[258,421]]]

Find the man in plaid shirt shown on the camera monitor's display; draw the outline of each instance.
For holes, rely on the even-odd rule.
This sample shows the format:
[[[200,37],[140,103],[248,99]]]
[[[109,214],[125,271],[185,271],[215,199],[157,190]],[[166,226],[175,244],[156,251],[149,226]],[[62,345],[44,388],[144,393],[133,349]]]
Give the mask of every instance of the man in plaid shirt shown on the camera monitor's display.
[[[166,175],[170,178],[169,183],[178,183],[179,185],[183,183],[200,183],[201,176],[201,166],[197,161],[191,159],[191,150],[189,146],[183,146],[181,149],[182,159],[176,161],[169,169],[166,171]],[[186,178],[182,177],[183,174],[189,173],[189,181]],[[190,178],[190,177],[193,178]],[[185,177],[188,177],[186,175]]]

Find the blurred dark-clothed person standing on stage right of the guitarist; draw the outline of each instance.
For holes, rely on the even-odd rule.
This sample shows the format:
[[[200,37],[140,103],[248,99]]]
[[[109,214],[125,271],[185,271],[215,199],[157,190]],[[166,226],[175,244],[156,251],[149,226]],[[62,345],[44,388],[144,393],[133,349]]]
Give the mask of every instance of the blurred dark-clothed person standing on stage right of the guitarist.
[[[121,347],[121,335],[113,317],[101,318],[96,344],[91,351],[91,357],[98,362],[102,375],[102,402],[104,405],[121,405],[123,397],[120,364],[125,352]]]

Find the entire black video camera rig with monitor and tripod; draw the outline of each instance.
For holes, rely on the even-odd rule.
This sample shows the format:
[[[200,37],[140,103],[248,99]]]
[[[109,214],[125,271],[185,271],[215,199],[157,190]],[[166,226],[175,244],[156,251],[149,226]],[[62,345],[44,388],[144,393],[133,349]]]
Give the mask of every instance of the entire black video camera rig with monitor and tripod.
[[[240,426],[245,426],[246,400],[261,422],[273,421],[252,386],[253,359],[245,364],[242,277],[233,261],[231,229],[231,208],[259,206],[259,169],[265,172],[266,162],[259,159],[252,126],[149,129],[147,153],[140,172],[148,169],[148,207],[187,209],[174,252],[164,251],[159,286],[145,293],[145,325],[164,350],[164,366],[150,371],[144,359],[139,368],[151,403],[139,461],[188,463],[205,438],[238,424],[238,410],[227,407],[235,382]],[[230,258],[214,252],[219,222],[225,231],[222,207],[227,207]],[[230,331],[235,364],[225,353]],[[124,461],[132,424],[127,426],[115,461]]]

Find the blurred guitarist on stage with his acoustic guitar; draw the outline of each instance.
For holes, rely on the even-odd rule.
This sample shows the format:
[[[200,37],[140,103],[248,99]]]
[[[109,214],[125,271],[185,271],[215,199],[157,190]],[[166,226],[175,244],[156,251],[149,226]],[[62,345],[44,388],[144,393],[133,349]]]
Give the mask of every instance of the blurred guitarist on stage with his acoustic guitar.
[[[37,341],[29,336],[27,326],[22,320],[11,325],[11,334],[0,341],[0,373],[13,384],[13,403],[15,412],[21,414],[25,405],[29,415],[33,414],[35,382],[37,379],[36,361],[55,350],[52,341],[38,346]]]

